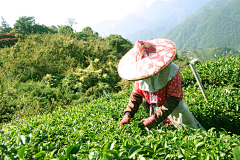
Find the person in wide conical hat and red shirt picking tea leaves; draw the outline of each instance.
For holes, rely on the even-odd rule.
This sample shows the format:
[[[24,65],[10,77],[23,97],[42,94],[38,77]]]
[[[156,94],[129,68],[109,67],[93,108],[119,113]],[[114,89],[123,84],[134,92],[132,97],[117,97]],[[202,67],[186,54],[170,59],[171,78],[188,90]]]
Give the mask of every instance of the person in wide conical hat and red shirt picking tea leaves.
[[[130,124],[140,104],[149,113],[143,128],[163,123],[204,129],[189,111],[183,99],[179,67],[173,63],[176,45],[168,39],[137,41],[120,60],[118,74],[135,81],[120,125]]]

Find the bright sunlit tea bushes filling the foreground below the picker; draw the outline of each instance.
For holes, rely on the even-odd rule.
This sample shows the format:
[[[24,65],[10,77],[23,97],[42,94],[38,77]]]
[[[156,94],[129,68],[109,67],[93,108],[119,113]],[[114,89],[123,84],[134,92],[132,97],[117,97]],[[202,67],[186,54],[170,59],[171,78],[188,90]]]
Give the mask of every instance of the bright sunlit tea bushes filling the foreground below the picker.
[[[233,148],[240,145],[239,135],[215,128],[200,131],[185,126],[141,130],[139,123],[148,116],[143,107],[130,125],[121,128],[118,123],[130,92],[110,94],[110,99],[68,106],[65,110],[59,108],[51,114],[2,125],[1,159],[233,159]],[[225,90],[218,92],[224,94]],[[185,89],[185,94],[191,111],[205,104],[196,101],[201,97],[196,90]],[[236,94],[239,93],[233,92]],[[195,100],[191,98],[194,95]],[[202,108],[206,111],[199,112],[205,116],[207,108]],[[204,119],[197,115],[204,127],[213,118],[206,116]]]

